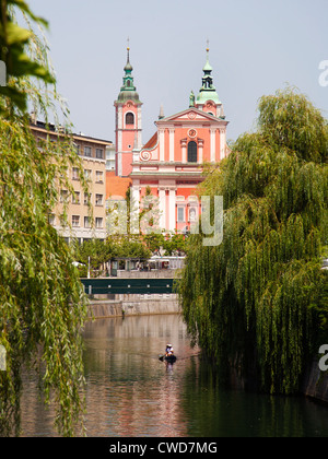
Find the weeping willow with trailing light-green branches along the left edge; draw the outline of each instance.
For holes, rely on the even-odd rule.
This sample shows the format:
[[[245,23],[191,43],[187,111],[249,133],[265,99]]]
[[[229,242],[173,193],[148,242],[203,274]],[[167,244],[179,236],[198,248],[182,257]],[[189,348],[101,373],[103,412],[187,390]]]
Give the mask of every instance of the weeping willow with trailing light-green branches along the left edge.
[[[7,85],[0,89],[0,345],[5,350],[0,435],[20,434],[23,367],[37,370],[59,433],[73,435],[84,408],[86,299],[70,248],[48,214],[61,188],[73,191],[67,174],[72,165],[81,180],[83,169],[69,133],[39,144],[30,129],[28,104],[47,122],[59,101],[47,45],[33,31],[46,22],[23,0],[1,0],[0,7],[0,58],[7,68]],[[26,20],[24,27],[17,13]],[[65,107],[63,115],[68,119]]]

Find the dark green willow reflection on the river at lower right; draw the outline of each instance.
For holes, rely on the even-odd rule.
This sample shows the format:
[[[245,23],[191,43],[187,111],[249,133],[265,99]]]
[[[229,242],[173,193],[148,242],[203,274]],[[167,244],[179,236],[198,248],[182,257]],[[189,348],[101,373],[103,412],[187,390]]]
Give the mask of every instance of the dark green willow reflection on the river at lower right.
[[[188,366],[180,399],[180,415],[188,420],[187,436],[302,437],[328,433],[327,408],[303,397],[229,389],[218,369],[201,357]]]

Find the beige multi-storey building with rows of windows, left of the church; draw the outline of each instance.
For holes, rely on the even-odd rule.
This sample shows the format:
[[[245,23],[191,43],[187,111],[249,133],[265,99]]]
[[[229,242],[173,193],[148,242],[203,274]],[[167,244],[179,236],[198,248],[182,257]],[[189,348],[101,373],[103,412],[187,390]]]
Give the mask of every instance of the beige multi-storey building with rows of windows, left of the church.
[[[38,139],[57,142],[62,133],[55,126],[42,121],[31,122],[31,130]],[[80,181],[79,168],[67,172],[74,193],[60,189],[59,202],[49,215],[49,222],[66,238],[79,243],[87,239],[106,238],[106,149],[110,141],[94,139],[83,134],[72,134],[77,154],[82,160],[84,176],[89,181],[89,192],[84,192]],[[65,203],[69,225],[61,224]],[[90,205],[91,204],[91,205]]]

